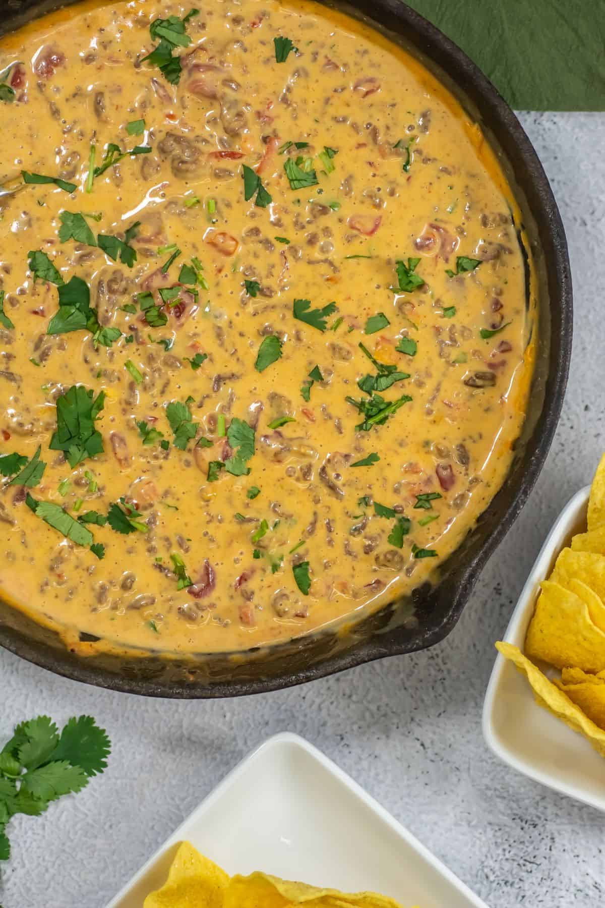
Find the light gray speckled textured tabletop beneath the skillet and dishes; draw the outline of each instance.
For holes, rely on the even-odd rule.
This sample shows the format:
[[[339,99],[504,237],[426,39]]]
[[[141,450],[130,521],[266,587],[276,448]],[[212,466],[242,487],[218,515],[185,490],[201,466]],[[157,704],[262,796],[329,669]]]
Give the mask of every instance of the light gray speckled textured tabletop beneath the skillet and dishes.
[[[605,449],[605,115],[522,120],[570,242],[571,377],[542,476],[458,627],[415,656],[207,704],[95,690],[0,651],[3,740],[14,722],[44,712],[57,720],[93,715],[113,741],[109,769],[86,791],[11,824],[5,908],[102,908],[232,765],[285,730],[331,756],[491,908],[605,903],[603,816],[500,764],[481,734],[493,641],[553,518],[590,481]]]

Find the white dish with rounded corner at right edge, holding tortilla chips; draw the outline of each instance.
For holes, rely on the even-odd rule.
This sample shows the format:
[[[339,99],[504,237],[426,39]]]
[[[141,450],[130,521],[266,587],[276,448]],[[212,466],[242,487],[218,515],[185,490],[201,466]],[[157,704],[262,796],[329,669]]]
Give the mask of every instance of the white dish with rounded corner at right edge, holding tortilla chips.
[[[523,648],[540,592],[562,548],[586,530],[590,486],[563,508],[523,587],[503,639]],[[527,678],[498,654],[483,704],[483,736],[504,763],[563,795],[605,811],[605,763],[590,743],[533,698]]]

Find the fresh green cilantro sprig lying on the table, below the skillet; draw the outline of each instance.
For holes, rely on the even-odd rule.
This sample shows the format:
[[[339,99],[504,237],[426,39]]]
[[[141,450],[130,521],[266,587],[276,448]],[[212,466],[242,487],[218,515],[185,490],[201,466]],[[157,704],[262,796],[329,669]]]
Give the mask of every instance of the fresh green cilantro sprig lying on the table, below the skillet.
[[[51,801],[82,791],[107,767],[110,751],[92,716],[71,718],[61,735],[49,716],[16,725],[0,751],[0,861],[10,858],[6,826],[12,817],[39,816]]]

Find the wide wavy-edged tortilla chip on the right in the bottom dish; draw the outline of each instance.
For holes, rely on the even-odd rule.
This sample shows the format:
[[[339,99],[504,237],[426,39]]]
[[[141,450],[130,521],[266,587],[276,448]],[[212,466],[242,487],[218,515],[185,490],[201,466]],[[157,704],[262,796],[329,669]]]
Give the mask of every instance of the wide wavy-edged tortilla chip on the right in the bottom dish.
[[[280,880],[268,873],[232,877],[224,908],[291,908],[299,904],[305,908],[401,908],[385,895],[318,889],[307,883]]]

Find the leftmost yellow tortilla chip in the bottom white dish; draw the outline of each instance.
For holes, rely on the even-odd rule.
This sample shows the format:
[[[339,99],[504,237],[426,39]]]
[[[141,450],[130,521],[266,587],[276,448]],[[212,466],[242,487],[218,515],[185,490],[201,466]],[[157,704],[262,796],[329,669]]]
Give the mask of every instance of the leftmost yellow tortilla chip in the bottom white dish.
[[[183,842],[174,856],[168,880],[150,893],[143,908],[223,908],[229,876],[217,864]]]

